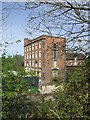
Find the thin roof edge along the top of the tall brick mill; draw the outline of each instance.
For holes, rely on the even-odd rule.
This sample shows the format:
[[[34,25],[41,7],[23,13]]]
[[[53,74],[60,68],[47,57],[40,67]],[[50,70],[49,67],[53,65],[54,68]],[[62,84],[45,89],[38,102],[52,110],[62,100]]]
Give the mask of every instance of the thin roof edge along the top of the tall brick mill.
[[[28,39],[28,43],[27,43],[26,45],[24,45],[24,46],[27,46],[27,45],[29,45],[29,44],[31,44],[31,43],[36,42],[36,41],[40,41],[40,40],[42,40],[42,39],[46,39],[47,37],[65,39],[64,37],[56,37],[56,36],[49,36],[49,35],[41,35],[41,36],[39,36],[39,37],[37,37],[37,38],[34,38],[33,40],[30,40],[30,39],[28,39],[28,38],[25,38],[25,39]],[[25,40],[25,39],[24,39],[24,40]]]

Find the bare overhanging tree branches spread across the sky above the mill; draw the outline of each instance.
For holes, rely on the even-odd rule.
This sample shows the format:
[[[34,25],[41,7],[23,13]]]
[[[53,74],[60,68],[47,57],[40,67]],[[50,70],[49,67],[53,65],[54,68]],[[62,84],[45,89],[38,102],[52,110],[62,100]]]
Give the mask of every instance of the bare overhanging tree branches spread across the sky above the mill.
[[[27,31],[30,36],[64,36],[69,49],[90,50],[90,2],[26,2],[29,10]],[[36,34],[37,33],[37,34]]]

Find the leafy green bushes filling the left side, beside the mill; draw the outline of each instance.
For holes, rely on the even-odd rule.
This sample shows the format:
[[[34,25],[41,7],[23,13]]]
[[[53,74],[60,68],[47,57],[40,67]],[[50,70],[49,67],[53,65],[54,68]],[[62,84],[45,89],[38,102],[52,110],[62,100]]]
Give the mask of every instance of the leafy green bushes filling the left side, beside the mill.
[[[15,58],[3,56],[2,120],[21,120],[36,116],[34,111],[37,103],[31,98],[28,99],[28,96],[31,96],[28,90],[32,88],[26,81],[21,80],[26,73],[23,66],[15,66],[18,63]],[[32,91],[35,92],[35,90]]]

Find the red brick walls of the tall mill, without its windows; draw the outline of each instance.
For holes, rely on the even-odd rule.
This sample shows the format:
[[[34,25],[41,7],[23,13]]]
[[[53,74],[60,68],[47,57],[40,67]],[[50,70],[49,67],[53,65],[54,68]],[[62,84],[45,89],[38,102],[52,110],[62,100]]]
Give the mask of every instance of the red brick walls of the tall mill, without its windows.
[[[41,47],[40,46],[41,43]],[[24,39],[24,65],[28,70],[40,70],[43,83],[49,83],[52,78],[52,69],[54,69],[54,60],[52,57],[53,44],[57,45],[58,49],[58,58],[55,60],[56,68],[58,71],[65,69],[65,39],[59,37],[51,37],[43,35],[41,37],[35,38],[32,41],[29,41],[28,38]],[[33,47],[34,45],[34,47]],[[36,47],[37,45],[37,47]],[[31,46],[31,50],[30,50]],[[37,49],[36,49],[37,48]],[[39,53],[41,51],[41,57]],[[34,53],[34,58],[32,57]],[[37,58],[36,53],[38,53]],[[31,57],[30,57],[31,54]],[[41,67],[39,67],[39,61],[41,60]],[[30,61],[34,61],[34,66],[30,66]],[[35,61],[37,61],[37,66]],[[61,72],[59,72],[61,74]]]

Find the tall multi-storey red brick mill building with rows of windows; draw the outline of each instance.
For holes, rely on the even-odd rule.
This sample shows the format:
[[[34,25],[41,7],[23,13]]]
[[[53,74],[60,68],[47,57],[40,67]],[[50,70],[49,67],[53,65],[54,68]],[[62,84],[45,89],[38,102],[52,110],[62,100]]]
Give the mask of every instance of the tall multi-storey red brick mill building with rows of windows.
[[[24,67],[34,70],[43,83],[65,76],[65,38],[42,35],[24,39]],[[63,74],[62,74],[63,73]]]

